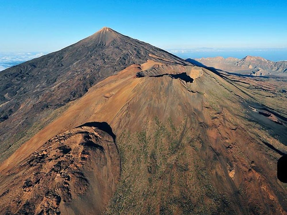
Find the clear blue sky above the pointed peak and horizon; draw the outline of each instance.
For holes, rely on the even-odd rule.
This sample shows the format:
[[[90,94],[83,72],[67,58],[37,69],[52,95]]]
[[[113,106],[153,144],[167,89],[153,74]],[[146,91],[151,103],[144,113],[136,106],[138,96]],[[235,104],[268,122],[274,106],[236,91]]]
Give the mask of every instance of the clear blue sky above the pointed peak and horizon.
[[[0,52],[59,50],[103,26],[164,49],[287,47],[286,2],[1,0]]]

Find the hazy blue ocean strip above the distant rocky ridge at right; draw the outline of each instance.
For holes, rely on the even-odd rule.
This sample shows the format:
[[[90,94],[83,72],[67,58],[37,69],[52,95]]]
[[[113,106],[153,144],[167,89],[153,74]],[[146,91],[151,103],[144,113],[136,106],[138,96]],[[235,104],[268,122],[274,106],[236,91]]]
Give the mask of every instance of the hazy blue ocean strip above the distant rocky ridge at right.
[[[257,48],[257,49],[220,49],[220,48],[194,48],[194,49],[172,49],[168,52],[175,54],[183,59],[186,58],[206,58],[222,56],[243,58],[247,55],[259,56],[267,60],[279,61],[287,60],[287,48]]]

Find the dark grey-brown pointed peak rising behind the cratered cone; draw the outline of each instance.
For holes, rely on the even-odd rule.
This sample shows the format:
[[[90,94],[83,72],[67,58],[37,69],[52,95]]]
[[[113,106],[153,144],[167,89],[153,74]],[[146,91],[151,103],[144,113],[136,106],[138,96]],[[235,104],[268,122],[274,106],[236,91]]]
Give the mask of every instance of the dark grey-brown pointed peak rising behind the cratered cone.
[[[155,56],[163,62],[188,64],[150,44],[102,28],[62,50],[1,71],[0,161],[92,85]]]

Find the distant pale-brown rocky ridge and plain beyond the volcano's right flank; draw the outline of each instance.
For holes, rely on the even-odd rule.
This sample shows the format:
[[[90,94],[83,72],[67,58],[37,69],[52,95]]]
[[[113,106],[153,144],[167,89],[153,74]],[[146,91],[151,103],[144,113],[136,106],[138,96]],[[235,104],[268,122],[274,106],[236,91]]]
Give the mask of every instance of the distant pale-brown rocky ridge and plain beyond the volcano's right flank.
[[[287,61],[271,61],[262,57],[245,56],[238,58],[208,57],[198,58],[196,61],[208,67],[214,67],[228,72],[236,72],[252,76],[285,76],[287,74]],[[191,62],[191,60],[188,60]]]

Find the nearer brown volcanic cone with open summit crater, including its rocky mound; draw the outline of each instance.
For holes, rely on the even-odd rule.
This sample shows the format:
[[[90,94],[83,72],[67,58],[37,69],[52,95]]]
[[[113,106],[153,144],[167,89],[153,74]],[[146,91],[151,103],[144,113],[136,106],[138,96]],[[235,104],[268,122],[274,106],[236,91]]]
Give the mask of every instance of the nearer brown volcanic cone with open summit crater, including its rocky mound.
[[[280,89],[286,80],[155,58],[162,57],[132,64],[91,87],[5,160],[1,211],[287,214],[287,187],[276,178],[276,162],[287,152],[287,97]],[[103,134],[83,125],[88,122],[107,122],[116,145],[107,134],[107,142],[97,138]],[[78,126],[88,131],[94,150],[84,148]],[[108,154],[112,158],[102,166]],[[74,165],[61,165],[55,175],[59,161]],[[73,172],[82,172],[85,182],[75,183],[79,175]],[[96,195],[97,186],[108,191]]]

